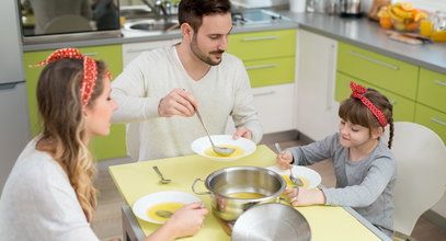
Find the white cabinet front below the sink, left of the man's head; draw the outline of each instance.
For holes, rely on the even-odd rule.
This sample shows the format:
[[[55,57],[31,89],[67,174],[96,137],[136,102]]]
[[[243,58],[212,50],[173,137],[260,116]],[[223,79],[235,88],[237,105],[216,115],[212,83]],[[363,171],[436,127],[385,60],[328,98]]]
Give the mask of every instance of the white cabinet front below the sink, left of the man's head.
[[[180,43],[180,38],[168,41],[153,41],[144,43],[123,44],[123,67],[125,68],[128,62],[136,58],[140,53],[151,50],[155,48],[163,47],[165,45],[174,45]]]

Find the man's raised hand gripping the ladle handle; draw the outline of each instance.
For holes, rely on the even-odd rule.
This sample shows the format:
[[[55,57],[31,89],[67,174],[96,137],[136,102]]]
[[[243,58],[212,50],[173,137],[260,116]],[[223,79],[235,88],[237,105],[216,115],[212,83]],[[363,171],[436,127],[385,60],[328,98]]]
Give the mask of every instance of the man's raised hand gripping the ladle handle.
[[[197,102],[192,93],[182,89],[174,89],[161,99],[158,105],[158,114],[161,117],[171,117],[173,115],[191,117],[195,114],[194,106],[197,106]]]

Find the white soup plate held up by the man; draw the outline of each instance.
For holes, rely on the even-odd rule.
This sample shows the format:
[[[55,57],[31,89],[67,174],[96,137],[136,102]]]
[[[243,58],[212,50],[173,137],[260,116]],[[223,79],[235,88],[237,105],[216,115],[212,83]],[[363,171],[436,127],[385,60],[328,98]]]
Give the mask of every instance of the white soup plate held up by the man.
[[[256,149],[256,146],[252,140],[249,140],[249,139],[245,139],[242,137],[240,137],[237,140],[233,140],[232,136],[229,136],[229,135],[213,135],[213,136],[210,136],[210,138],[213,139],[214,144],[217,146],[231,145],[231,146],[240,147],[241,149],[243,149],[243,154],[238,156],[238,157],[211,157],[211,156],[206,154],[205,151],[211,147],[209,138],[207,136],[204,136],[204,137],[201,137],[201,138],[194,140],[191,144],[192,150],[199,156],[210,158],[210,159],[214,159],[217,161],[233,161],[239,158],[243,158],[243,157],[251,154]]]

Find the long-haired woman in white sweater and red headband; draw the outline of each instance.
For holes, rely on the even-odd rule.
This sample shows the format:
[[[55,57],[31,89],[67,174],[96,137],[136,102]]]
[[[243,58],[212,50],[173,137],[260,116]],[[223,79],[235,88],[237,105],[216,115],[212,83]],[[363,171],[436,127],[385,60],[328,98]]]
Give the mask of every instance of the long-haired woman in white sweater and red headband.
[[[20,154],[0,199],[2,240],[98,240],[90,228],[96,206],[95,175],[87,148],[110,133],[116,103],[103,61],[78,49],[56,50],[38,79],[42,134]],[[147,240],[173,240],[196,233],[207,209],[187,205]]]

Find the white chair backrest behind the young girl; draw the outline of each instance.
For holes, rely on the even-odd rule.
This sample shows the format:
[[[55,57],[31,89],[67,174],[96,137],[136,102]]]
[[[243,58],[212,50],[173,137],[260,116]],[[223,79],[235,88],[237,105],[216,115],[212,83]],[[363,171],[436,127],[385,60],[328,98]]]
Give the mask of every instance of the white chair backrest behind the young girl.
[[[431,129],[397,122],[391,150],[398,163],[393,228],[410,236],[420,216],[446,191],[446,148]]]

